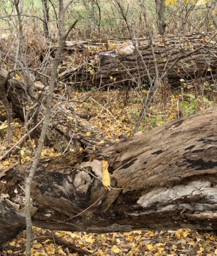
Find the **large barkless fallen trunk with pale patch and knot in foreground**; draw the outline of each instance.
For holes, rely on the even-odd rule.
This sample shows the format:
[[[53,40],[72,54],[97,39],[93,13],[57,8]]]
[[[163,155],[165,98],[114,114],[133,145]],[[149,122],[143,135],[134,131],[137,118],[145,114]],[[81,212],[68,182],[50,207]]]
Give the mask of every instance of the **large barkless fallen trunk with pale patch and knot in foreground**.
[[[42,159],[31,188],[33,224],[86,232],[216,230],[216,118],[210,108],[94,156],[83,150]],[[101,182],[102,160],[109,189]],[[25,226],[22,188],[30,165],[0,173],[0,243]]]

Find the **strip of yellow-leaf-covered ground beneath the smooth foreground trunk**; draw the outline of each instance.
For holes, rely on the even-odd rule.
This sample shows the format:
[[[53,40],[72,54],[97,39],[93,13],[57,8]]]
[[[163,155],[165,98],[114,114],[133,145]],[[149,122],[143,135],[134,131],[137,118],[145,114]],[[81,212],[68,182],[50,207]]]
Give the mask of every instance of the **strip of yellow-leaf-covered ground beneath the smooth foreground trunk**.
[[[125,233],[88,234],[86,232],[54,231],[54,234],[69,244],[99,256],[175,256],[217,254],[217,236],[190,229],[178,231],[131,231]],[[1,255],[25,255],[25,235],[22,231],[16,239],[2,246]],[[68,246],[69,247],[69,246]],[[55,239],[46,237],[45,230],[33,228],[34,256],[81,255],[67,246],[58,245]],[[85,255],[85,254],[83,254]]]

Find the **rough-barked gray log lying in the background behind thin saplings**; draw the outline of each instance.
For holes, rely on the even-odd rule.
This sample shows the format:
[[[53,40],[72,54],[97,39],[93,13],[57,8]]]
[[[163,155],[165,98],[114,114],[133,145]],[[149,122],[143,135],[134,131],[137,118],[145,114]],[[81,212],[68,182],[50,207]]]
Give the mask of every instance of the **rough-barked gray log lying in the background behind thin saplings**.
[[[213,34],[156,37],[153,39],[156,59],[148,39],[137,39],[137,45],[152,78],[156,76],[155,62],[159,74],[166,72],[173,86],[180,85],[180,78],[194,80],[216,76],[217,44]],[[51,48],[53,55],[56,48]],[[59,80],[89,89],[108,84],[148,82],[147,70],[131,40],[66,42],[59,73]]]

